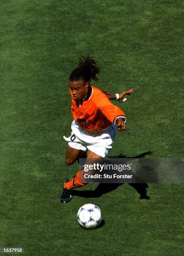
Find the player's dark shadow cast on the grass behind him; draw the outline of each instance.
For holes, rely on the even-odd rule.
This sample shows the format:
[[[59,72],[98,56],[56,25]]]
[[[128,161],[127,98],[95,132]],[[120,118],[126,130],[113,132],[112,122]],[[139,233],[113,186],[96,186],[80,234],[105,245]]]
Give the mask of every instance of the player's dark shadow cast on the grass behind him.
[[[109,158],[143,158],[146,155],[152,154],[152,151],[148,151],[145,153],[142,153],[138,156],[133,157],[127,157],[125,155],[119,155],[119,156],[111,156]],[[72,190],[72,195],[78,196],[78,197],[101,197],[103,194],[109,193],[112,190],[117,189],[119,186],[123,185],[124,183],[100,183],[98,184],[97,188],[95,190]],[[150,199],[150,197],[147,195],[146,189],[148,188],[148,184],[146,183],[128,183],[131,187],[133,187],[140,195],[140,199]]]

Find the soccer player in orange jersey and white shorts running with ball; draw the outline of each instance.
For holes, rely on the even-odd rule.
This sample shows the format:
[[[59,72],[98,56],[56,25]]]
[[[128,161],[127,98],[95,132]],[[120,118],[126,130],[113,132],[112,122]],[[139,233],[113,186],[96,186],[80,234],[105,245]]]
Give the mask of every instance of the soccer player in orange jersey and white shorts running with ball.
[[[110,92],[102,92],[90,84],[91,79],[97,81],[100,68],[97,62],[89,55],[79,59],[78,67],[69,76],[70,94],[72,97],[72,134],[66,148],[65,162],[74,164],[80,156],[87,151],[87,159],[103,159],[112,148],[116,131],[124,131],[126,128],[125,113],[110,100],[123,101],[122,95],[114,95]],[[118,97],[120,97],[118,99]],[[81,172],[70,181],[66,181],[62,188],[60,200],[69,202],[72,198],[71,189],[83,187],[86,183],[80,179]]]

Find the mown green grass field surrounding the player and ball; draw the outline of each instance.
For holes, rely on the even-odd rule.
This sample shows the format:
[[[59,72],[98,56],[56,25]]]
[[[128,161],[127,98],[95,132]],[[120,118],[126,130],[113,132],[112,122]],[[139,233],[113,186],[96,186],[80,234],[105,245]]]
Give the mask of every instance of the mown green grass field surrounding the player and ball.
[[[184,156],[183,1],[2,0],[0,17],[0,247],[26,256],[184,255],[183,184],[148,184],[150,200],[128,184],[87,198],[97,187],[89,184],[82,197],[59,201],[78,169],[64,163],[68,77],[87,53],[101,67],[95,86],[134,89],[114,102],[128,121],[110,157]],[[102,210],[101,228],[77,223],[89,202]]]

